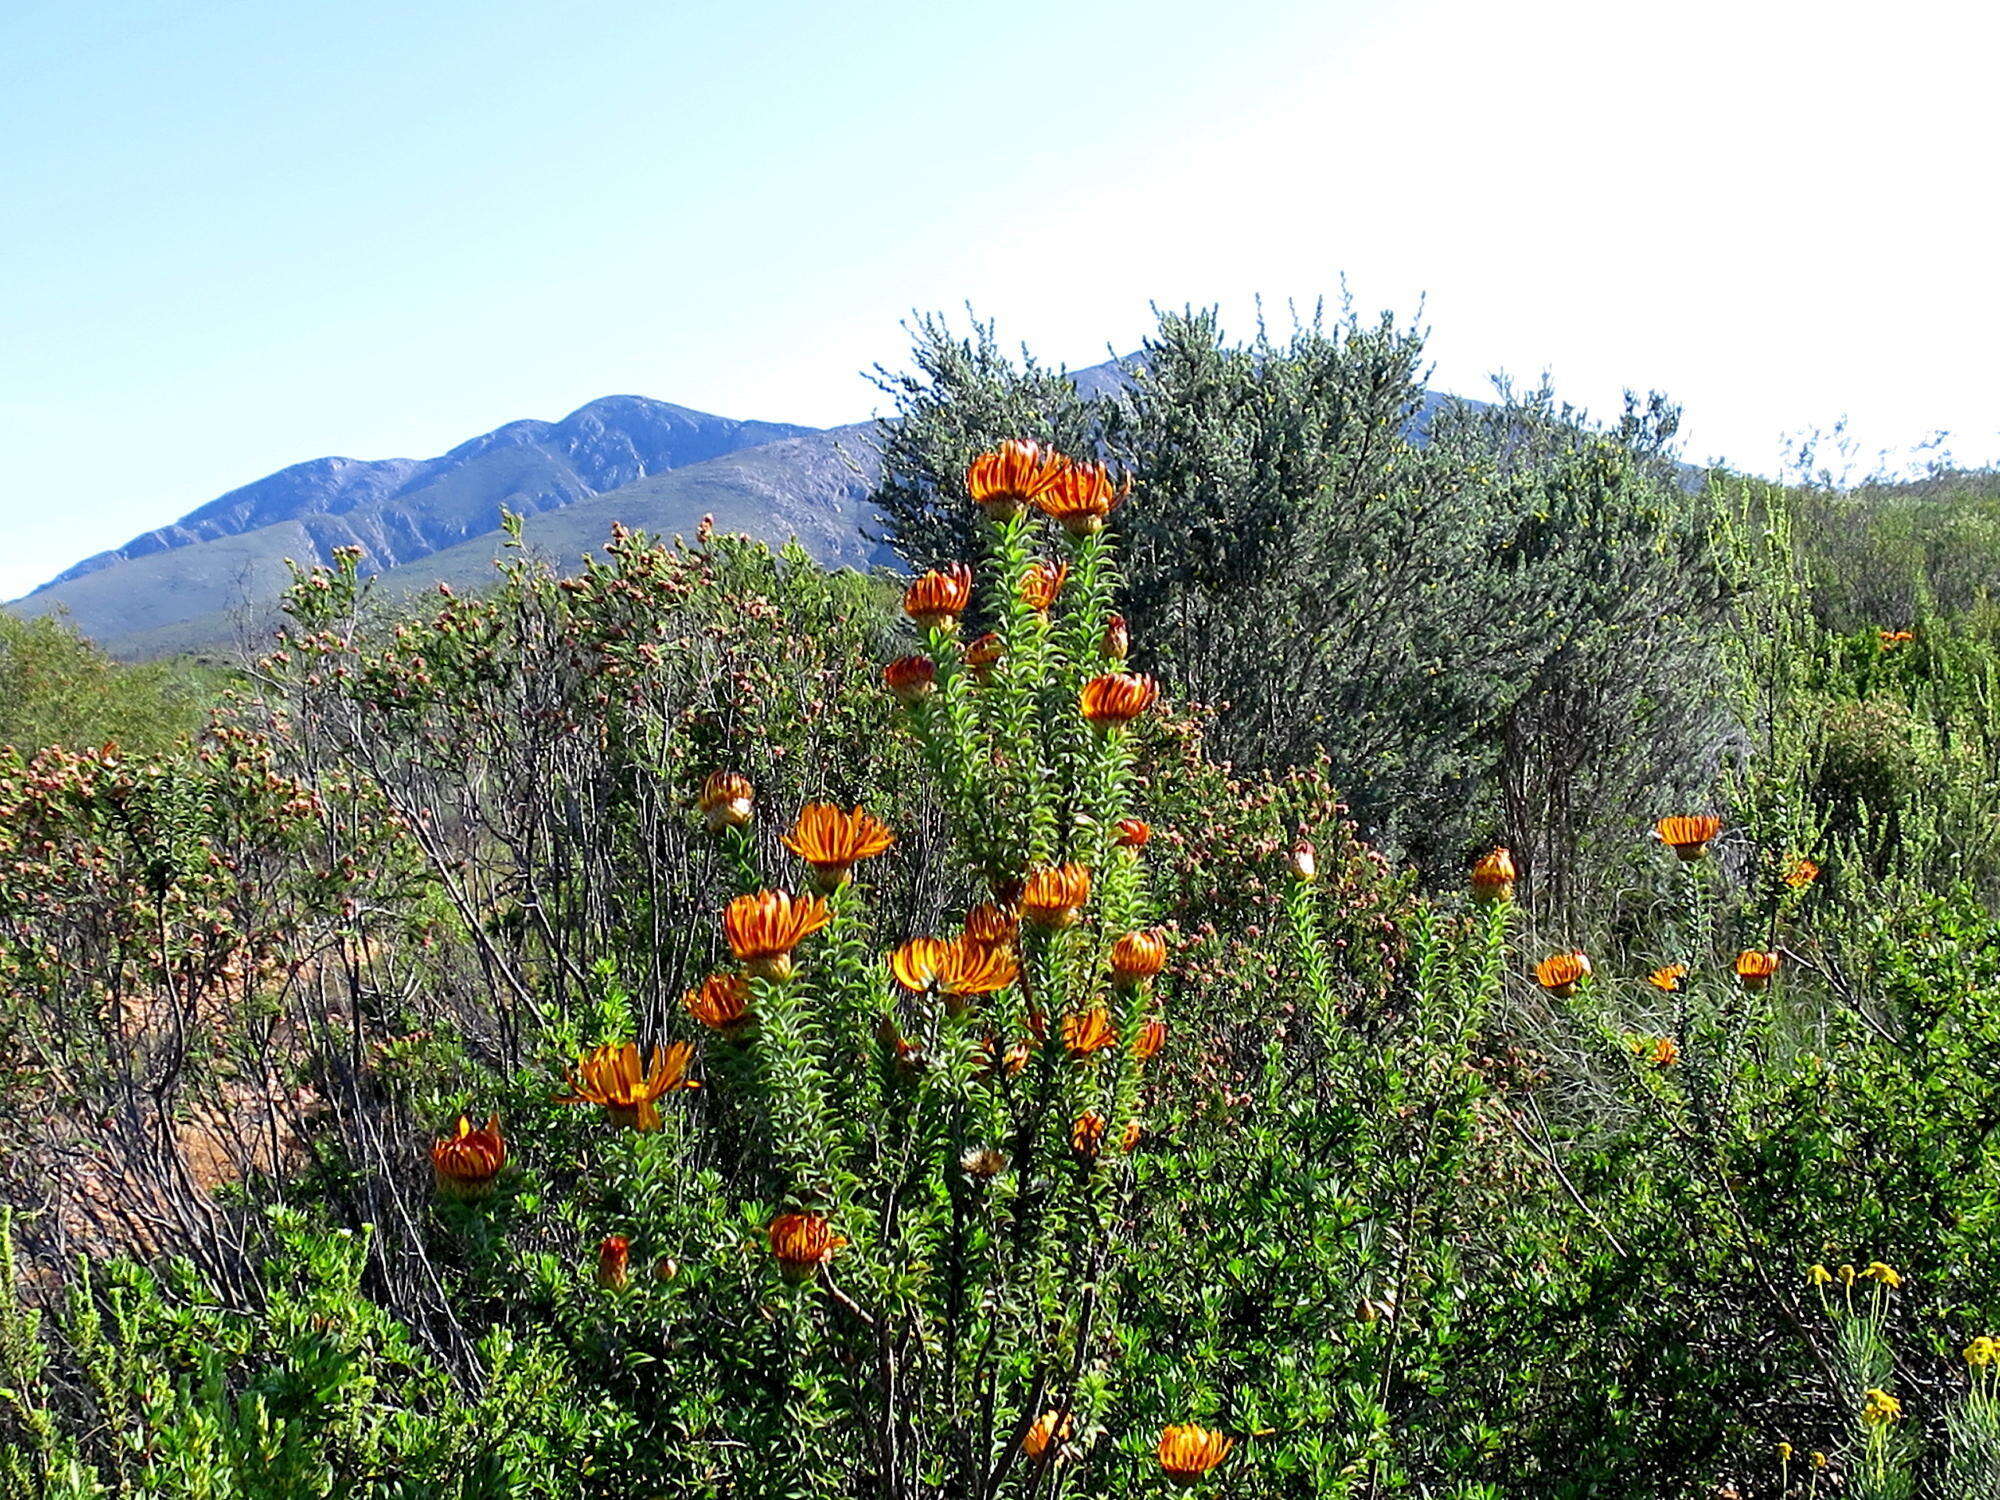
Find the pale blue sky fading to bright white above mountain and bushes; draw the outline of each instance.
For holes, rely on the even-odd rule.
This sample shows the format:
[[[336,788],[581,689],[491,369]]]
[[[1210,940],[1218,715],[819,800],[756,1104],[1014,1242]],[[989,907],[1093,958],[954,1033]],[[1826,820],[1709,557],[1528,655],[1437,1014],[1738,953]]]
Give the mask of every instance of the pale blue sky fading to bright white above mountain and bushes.
[[[966,306],[1080,368],[1346,286],[1696,462],[1994,462],[1996,54],[1966,0],[6,0],[0,598],[596,396],[860,420]]]

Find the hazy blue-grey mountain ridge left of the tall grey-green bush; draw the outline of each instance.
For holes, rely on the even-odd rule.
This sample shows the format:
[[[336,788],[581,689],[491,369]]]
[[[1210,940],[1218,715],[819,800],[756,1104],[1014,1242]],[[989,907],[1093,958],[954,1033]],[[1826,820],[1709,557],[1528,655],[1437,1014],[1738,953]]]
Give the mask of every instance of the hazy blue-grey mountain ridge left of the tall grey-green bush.
[[[282,468],[78,562],[8,608],[64,610],[118,656],[204,650],[268,628],[272,600],[290,580],[286,558],[324,562],[338,546],[360,546],[384,582],[402,582],[406,568],[420,570],[424,584],[486,578],[504,542],[502,510],[528,518],[528,540],[558,556],[602,544],[612,520],[692,532],[712,510],[732,530],[770,542],[796,534],[826,562],[866,566],[872,550],[860,540],[860,496],[872,450],[860,440],[864,430],[738,422],[644,396],[606,396],[560,422],[508,422],[438,458],[316,458]],[[620,492],[630,492],[628,502],[552,524]]]

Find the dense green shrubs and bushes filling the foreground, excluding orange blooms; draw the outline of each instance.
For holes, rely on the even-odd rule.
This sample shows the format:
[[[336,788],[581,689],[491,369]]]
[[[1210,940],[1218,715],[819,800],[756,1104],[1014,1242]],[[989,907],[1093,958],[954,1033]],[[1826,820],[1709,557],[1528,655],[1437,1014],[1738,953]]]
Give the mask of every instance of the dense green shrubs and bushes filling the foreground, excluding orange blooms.
[[[8,1486],[1160,1496],[1198,1424],[1256,1500],[1992,1496],[1992,484],[1696,482],[1660,402],[1420,412],[1420,352],[1174,316],[1084,400],[926,326],[880,498],[956,634],[620,532],[304,572],[186,742],[78,688],[0,758]],[[1132,470],[1108,530],[974,508],[1018,434]],[[724,912],[812,802],[896,838],[786,972]],[[1004,972],[908,984],[928,936]],[[564,1102],[624,1042],[700,1082],[658,1130]]]

